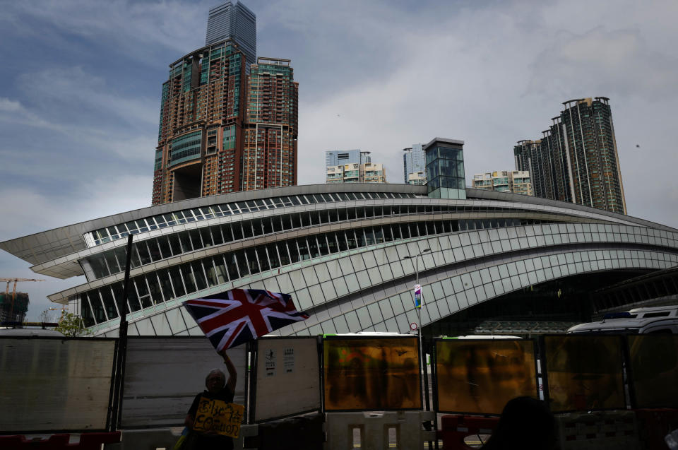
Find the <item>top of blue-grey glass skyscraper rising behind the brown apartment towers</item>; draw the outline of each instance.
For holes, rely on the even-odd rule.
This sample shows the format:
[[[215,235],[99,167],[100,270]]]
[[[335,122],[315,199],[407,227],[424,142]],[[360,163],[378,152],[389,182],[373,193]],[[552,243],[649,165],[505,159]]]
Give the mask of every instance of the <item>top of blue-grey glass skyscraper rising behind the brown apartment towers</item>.
[[[210,8],[205,45],[230,39],[245,54],[246,73],[256,62],[256,15],[239,1]]]

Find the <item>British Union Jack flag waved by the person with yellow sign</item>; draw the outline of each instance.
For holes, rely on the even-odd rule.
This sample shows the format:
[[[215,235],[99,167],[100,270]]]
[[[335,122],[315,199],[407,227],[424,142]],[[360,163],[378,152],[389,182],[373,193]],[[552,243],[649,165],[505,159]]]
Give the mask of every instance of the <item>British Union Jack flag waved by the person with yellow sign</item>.
[[[258,289],[232,289],[186,300],[184,307],[218,352],[309,318],[297,311],[289,294]]]

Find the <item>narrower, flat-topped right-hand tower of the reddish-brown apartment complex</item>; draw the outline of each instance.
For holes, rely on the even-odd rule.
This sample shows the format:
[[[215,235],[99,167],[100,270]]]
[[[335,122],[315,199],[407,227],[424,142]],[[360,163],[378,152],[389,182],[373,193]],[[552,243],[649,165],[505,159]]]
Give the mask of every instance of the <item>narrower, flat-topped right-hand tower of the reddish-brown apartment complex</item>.
[[[297,184],[299,83],[289,59],[251,66],[242,157],[242,190]]]

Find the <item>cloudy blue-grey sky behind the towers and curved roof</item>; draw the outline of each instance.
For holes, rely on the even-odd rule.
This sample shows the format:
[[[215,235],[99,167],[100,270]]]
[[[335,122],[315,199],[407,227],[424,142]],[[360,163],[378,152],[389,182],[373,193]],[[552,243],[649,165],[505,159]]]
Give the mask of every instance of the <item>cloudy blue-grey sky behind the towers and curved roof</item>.
[[[209,1],[0,0],[0,242],[150,206],[168,65],[202,47]],[[402,149],[465,141],[466,182],[513,170],[573,98],[610,98],[630,215],[678,227],[674,0],[244,0],[260,57],[299,82],[299,184],[360,148],[403,182]],[[0,278],[56,280],[0,251]],[[4,286],[2,286],[4,288]],[[49,312],[54,315],[54,311]]]

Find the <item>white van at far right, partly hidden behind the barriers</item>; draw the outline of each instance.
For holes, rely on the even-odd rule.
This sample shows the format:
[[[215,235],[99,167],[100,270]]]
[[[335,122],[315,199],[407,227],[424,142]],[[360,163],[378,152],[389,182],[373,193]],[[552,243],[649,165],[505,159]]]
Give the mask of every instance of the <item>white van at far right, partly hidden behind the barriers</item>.
[[[608,313],[600,322],[575,325],[567,333],[678,334],[678,305]]]

